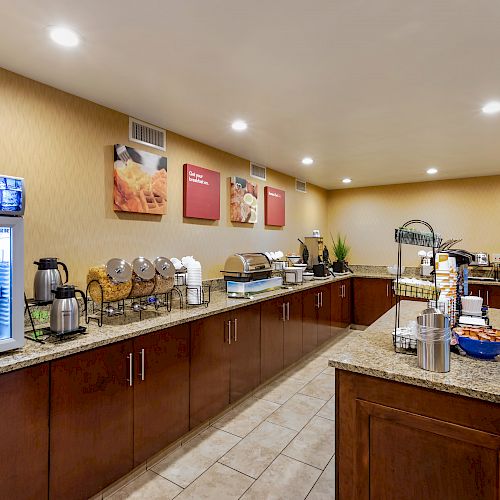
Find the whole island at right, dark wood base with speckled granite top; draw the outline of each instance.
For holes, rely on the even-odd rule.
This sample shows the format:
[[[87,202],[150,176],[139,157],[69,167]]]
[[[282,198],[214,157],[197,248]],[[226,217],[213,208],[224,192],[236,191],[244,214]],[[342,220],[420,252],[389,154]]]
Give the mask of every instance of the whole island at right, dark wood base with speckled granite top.
[[[421,310],[402,301],[400,324]],[[490,311],[498,325],[500,311]],[[416,356],[393,350],[394,314],[329,361],[336,368],[336,498],[497,500],[500,363],[452,354],[449,373],[421,370]]]

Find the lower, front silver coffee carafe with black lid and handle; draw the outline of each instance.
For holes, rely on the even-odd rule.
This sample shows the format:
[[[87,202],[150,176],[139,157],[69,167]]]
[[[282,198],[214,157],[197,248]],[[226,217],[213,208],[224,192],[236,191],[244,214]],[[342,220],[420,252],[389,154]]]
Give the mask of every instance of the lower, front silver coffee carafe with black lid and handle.
[[[81,294],[84,309],[87,307],[85,294],[73,285],[58,286],[50,308],[50,330],[57,334],[75,332],[80,327],[80,306],[76,294]]]

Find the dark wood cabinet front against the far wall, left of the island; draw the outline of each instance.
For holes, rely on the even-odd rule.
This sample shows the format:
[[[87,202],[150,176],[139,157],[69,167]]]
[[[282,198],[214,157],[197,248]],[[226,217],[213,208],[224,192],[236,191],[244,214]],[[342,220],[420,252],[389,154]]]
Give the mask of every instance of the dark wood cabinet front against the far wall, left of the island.
[[[392,280],[354,278],[352,284],[353,323],[369,326],[394,305]]]

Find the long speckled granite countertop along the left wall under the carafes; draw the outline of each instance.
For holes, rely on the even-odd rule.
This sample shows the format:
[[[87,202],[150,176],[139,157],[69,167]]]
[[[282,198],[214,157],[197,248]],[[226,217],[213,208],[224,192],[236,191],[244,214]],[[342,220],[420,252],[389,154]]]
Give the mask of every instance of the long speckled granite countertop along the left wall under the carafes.
[[[208,307],[189,306],[185,309],[174,307],[170,313],[165,309],[160,309],[158,312],[147,311],[143,312],[142,320],[138,319],[139,315],[137,313],[130,311],[127,312],[125,318],[123,316],[105,318],[102,327],[98,327],[95,321],[91,321],[88,325],[85,325],[85,320],[82,318],[82,326],[87,327],[87,333],[85,335],[78,335],[61,341],[49,340],[45,344],[26,340],[26,345],[21,349],[0,354],[0,373],[69,356],[71,354],[138,337],[146,333],[182,323],[188,323],[196,319],[231,311],[275,297],[315,288],[325,283],[345,280],[349,277],[350,276],[339,278],[331,277],[325,280],[313,280],[305,282],[302,285],[293,285],[279,290],[261,293],[254,296],[252,299],[230,299],[224,291],[213,291]]]

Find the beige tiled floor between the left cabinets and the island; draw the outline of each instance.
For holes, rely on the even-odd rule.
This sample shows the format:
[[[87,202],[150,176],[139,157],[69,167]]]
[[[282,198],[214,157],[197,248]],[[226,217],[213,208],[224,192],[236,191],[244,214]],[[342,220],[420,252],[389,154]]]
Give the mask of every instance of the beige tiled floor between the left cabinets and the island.
[[[117,499],[332,499],[335,376],[346,332],[111,494]]]

